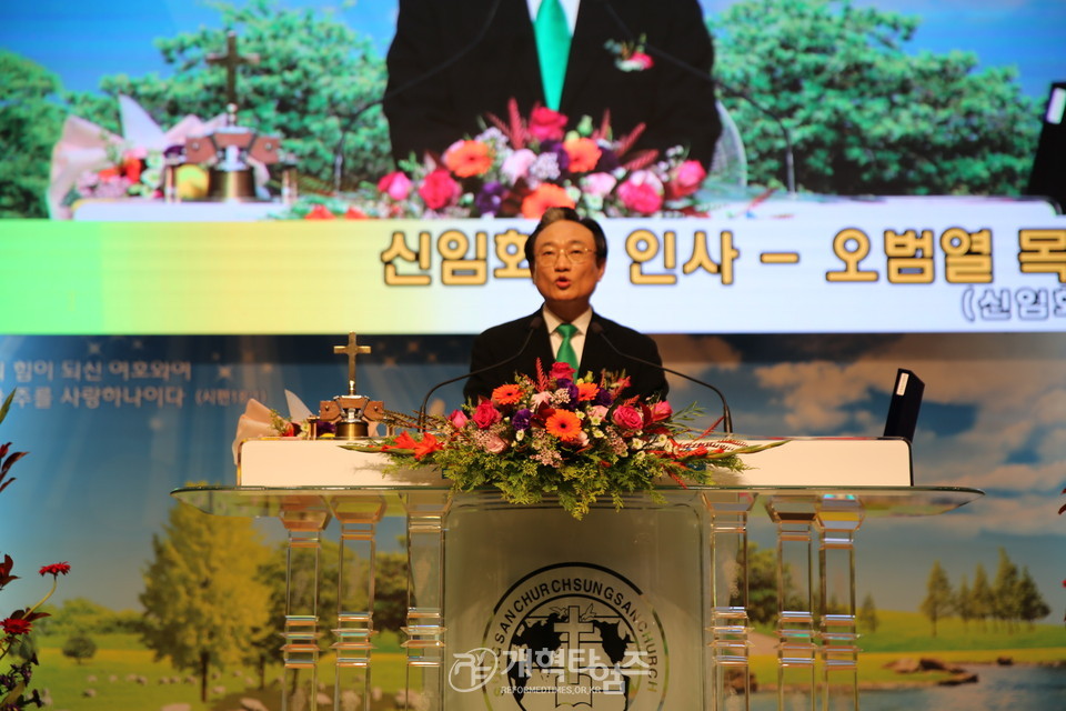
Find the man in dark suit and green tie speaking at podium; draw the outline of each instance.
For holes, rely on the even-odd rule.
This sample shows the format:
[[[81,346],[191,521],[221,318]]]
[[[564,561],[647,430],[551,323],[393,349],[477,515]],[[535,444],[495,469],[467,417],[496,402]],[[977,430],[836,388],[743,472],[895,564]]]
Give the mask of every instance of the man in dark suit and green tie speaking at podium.
[[[526,240],[525,257],[544,306],[474,339],[472,371],[502,364],[472,375],[463,389],[466,399],[476,403],[480,397],[489,398],[494,388],[514,382],[516,372],[535,378],[537,359],[549,372],[553,362],[563,360],[564,341],[573,348],[580,374],[624,370],[632,384],[623,397],[665,398],[663,371],[640,362],[662,364],[655,341],[592,310],[590,299],[607,263],[607,240],[600,224],[571,208],[550,208]],[[574,327],[570,337],[564,336],[567,324]]]

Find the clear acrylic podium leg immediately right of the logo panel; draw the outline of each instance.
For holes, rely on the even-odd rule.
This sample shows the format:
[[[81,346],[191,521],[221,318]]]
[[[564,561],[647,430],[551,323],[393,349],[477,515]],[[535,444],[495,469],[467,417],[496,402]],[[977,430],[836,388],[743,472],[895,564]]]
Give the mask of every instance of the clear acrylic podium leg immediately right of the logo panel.
[[[707,670],[714,711],[747,711],[752,679],[748,668],[747,519],[755,497],[750,492],[705,492],[711,512],[708,554],[711,571],[706,629],[711,648]]]

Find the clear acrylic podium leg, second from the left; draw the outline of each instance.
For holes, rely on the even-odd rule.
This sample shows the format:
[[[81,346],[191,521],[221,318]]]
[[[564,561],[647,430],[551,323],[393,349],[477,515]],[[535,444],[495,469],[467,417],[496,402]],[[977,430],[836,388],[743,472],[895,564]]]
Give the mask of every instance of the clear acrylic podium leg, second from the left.
[[[369,709],[374,633],[374,531],[385,512],[381,497],[335,497],[330,501],[341,525],[336,574],[336,653],[333,708]]]

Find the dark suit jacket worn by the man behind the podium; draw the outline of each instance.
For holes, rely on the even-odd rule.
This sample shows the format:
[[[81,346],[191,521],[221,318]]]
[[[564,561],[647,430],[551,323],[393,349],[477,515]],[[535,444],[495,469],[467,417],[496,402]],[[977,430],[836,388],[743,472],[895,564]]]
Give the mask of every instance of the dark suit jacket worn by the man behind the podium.
[[[474,339],[470,369],[474,371],[486,368],[519,353],[522,342],[530,332],[530,322],[539,316],[541,316],[540,311],[522,319],[494,326],[481,333]],[[655,341],[595,312],[592,314],[592,322],[602,326],[603,333],[595,334],[590,329],[590,332],[585,334],[585,346],[579,365],[580,374],[583,375],[591,370],[599,377],[603,371],[617,373],[624,370],[633,383],[628,390],[622,393],[623,397],[642,395],[647,398],[658,394],[665,398],[667,385],[665,373],[662,370],[620,356],[607,346],[604,339],[610,340],[622,353],[662,364],[663,361],[658,356],[658,347]],[[476,403],[479,395],[487,398],[492,394],[494,388],[514,382],[516,372],[536,378],[536,359],[541,359],[545,372],[550,371],[552,363],[555,362],[552,354],[551,336],[547,332],[547,327],[543,324],[533,333],[529,344],[517,358],[467,379],[466,385],[463,388],[463,395],[471,402]]]

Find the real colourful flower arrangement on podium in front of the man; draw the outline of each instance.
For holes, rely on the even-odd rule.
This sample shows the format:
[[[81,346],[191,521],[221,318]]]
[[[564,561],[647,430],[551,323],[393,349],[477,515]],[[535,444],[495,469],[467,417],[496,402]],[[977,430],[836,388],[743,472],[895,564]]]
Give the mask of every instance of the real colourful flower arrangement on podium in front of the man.
[[[663,478],[682,487],[710,484],[714,468],[747,469],[737,454],[784,443],[681,441],[695,433],[684,424],[694,411],[674,413],[665,400],[621,398],[627,385],[624,377],[575,379],[566,363],[545,373],[537,362],[536,379],[520,375],[489,400],[433,418],[435,433],[428,429],[415,437],[405,430],[375,447],[342,447],[384,452],[391,459],[386,471],[440,468],[456,491],[495,487],[520,504],[555,495],[581,519],[600,497],[611,497],[615,508],[630,493],[650,492],[662,501],[654,487]]]

